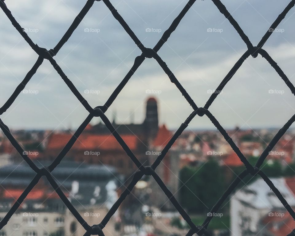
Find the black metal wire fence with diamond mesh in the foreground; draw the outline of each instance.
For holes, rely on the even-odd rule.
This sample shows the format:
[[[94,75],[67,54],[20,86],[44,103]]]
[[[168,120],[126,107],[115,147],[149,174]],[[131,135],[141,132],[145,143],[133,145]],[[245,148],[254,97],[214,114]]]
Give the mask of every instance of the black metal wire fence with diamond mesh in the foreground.
[[[230,138],[230,136],[227,134],[225,129],[219,124],[218,120],[215,119],[215,117],[211,114],[211,112],[208,110],[212,102],[215,100],[215,98],[218,96],[218,94],[222,91],[224,86],[227,84],[228,81],[234,76],[236,71],[241,67],[242,63],[251,55],[252,57],[257,57],[258,54],[260,54],[262,57],[266,59],[266,61],[269,62],[269,64],[273,67],[273,69],[279,74],[279,76],[283,79],[285,84],[289,87],[293,95],[295,96],[295,88],[294,85],[289,81],[288,77],[285,75],[285,73],[281,70],[281,68],[277,65],[277,63],[272,59],[272,57],[269,56],[269,54],[262,49],[262,46],[265,44],[265,42],[268,40],[268,38],[273,33],[274,29],[279,25],[279,23],[285,18],[286,14],[289,12],[289,10],[294,6],[295,0],[292,0],[286,8],[279,14],[277,19],[273,22],[273,24],[267,29],[266,33],[260,40],[257,46],[253,46],[247,35],[243,32],[241,27],[238,25],[236,20],[230,15],[226,7],[222,4],[220,0],[212,0],[212,2],[215,4],[215,6],[218,8],[218,10],[226,17],[226,19],[232,24],[234,29],[237,31],[237,33],[240,35],[242,40],[247,45],[246,52],[240,57],[240,59],[234,64],[234,66],[231,68],[229,73],[224,77],[224,79],[221,81],[220,85],[217,87],[214,93],[211,94],[209,100],[206,102],[204,107],[198,107],[195,102],[192,100],[191,96],[186,92],[186,90],[183,88],[183,86],[179,83],[179,81],[176,79],[175,75],[171,72],[171,70],[168,68],[166,63],[162,60],[162,58],[158,55],[159,49],[164,45],[164,43],[168,40],[171,33],[176,29],[176,27],[179,25],[179,22],[182,20],[182,18],[185,16],[187,11],[191,8],[191,6],[194,4],[195,0],[189,0],[187,4],[184,6],[183,10],[179,13],[179,15],[174,19],[170,27],[163,33],[162,37],[159,39],[158,43],[155,45],[154,48],[146,48],[141,41],[136,37],[136,35],[133,33],[132,29],[128,26],[128,24],[124,21],[124,19],[120,16],[120,14],[117,12],[117,10],[114,8],[112,3],[109,0],[102,0],[104,4],[108,7],[108,9],[111,11],[112,15],[116,18],[116,20],[121,24],[121,26],[125,29],[125,31],[129,34],[129,36],[132,38],[132,40],[135,42],[135,44],[139,47],[139,49],[142,51],[142,54],[135,58],[134,64],[132,68],[129,70],[127,75],[124,77],[124,79],[120,82],[120,84],[116,87],[116,89],[112,92],[111,96],[108,98],[106,103],[103,106],[97,106],[95,108],[92,108],[89,103],[85,100],[85,98],[81,95],[81,93],[75,88],[73,83],[69,80],[69,78],[65,75],[65,73],[62,71],[59,65],[57,65],[56,61],[53,59],[54,56],[58,53],[58,51],[61,49],[61,47],[65,44],[65,42],[69,39],[69,37],[72,35],[74,30],[77,28],[77,26],[80,24],[82,19],[85,17],[89,9],[92,7],[95,1],[100,0],[87,0],[85,6],[80,11],[80,13],[77,15],[77,17],[74,19],[73,23],[69,27],[69,29],[66,31],[64,36],[61,38],[61,40],[57,43],[57,45],[50,50],[47,50],[45,48],[39,47],[37,44],[34,44],[33,41],[29,38],[25,30],[19,25],[19,23],[15,20],[13,15],[11,14],[10,10],[7,8],[4,0],[0,0],[0,6],[1,9],[4,11],[6,16],[9,18],[12,25],[15,27],[15,29],[22,35],[22,37],[26,40],[26,42],[31,46],[31,48],[39,55],[36,63],[33,65],[33,67],[29,70],[29,72],[26,74],[24,80],[17,86],[13,94],[10,96],[10,98],[6,101],[6,103],[0,108],[0,115],[2,115],[14,102],[16,97],[20,94],[20,92],[25,88],[26,84],[29,82],[31,77],[36,73],[39,66],[42,64],[44,59],[47,59],[51,65],[53,65],[53,68],[57,71],[57,73],[61,76],[63,81],[68,85],[69,89],[73,92],[73,94],[77,97],[77,99],[81,102],[81,104],[86,108],[86,110],[89,112],[89,115],[84,120],[84,122],[80,125],[80,127],[77,129],[77,131],[74,133],[74,135],[71,137],[69,142],[65,145],[65,147],[62,149],[62,151],[59,153],[59,155],[56,157],[56,159],[48,166],[48,167],[42,167],[38,168],[33,161],[26,155],[26,152],[22,149],[20,144],[14,139],[12,136],[9,128],[3,123],[3,121],[0,119],[0,127],[3,131],[3,133],[6,135],[6,137],[10,140],[11,144],[16,148],[18,153],[22,156],[22,158],[26,161],[26,163],[29,164],[29,166],[36,172],[35,177],[31,181],[31,183],[26,187],[25,191],[20,195],[20,197],[17,199],[17,201],[13,204],[11,209],[8,211],[6,216],[2,219],[0,222],[0,230],[7,224],[10,217],[14,214],[14,212],[18,209],[18,207],[22,204],[26,196],[29,194],[29,192],[33,189],[33,187],[38,183],[38,181],[41,179],[42,176],[45,176],[49,183],[52,185],[56,193],[59,195],[61,200],[65,203],[65,205],[69,208],[71,213],[75,216],[75,218],[78,220],[78,222],[84,227],[86,230],[86,235],[104,235],[103,229],[112,217],[112,215],[118,210],[120,204],[124,201],[124,199],[127,197],[127,195],[130,194],[135,184],[144,176],[144,175],[151,175],[155,181],[159,184],[163,192],[167,195],[168,199],[171,201],[171,203],[175,206],[175,208],[179,211],[181,216],[184,218],[184,220],[187,222],[187,224],[190,226],[190,230],[186,234],[187,236],[191,236],[193,234],[197,235],[210,235],[207,227],[211,221],[211,219],[214,217],[214,213],[218,211],[222,203],[225,201],[225,199],[232,193],[235,189],[235,187],[242,181],[243,178],[245,178],[247,175],[260,175],[262,179],[267,183],[267,185],[272,189],[272,191],[275,193],[277,198],[281,201],[283,206],[286,208],[286,210],[289,212],[289,214],[292,216],[292,218],[295,220],[295,213],[294,210],[291,208],[291,206],[287,203],[287,201],[284,199],[284,197],[281,195],[281,193],[278,191],[278,189],[273,185],[273,183],[270,181],[270,179],[261,171],[259,168],[261,167],[262,163],[266,159],[266,157],[269,155],[269,152],[273,149],[273,147],[277,144],[279,139],[283,136],[283,134],[288,130],[291,124],[295,121],[295,114],[288,120],[288,122],[277,132],[277,134],[273,137],[271,142],[267,145],[265,150],[260,155],[257,163],[255,166],[252,166],[246,157],[242,154],[242,152],[239,150],[237,145],[234,143],[234,141]],[[161,154],[157,157],[155,162],[151,166],[143,166],[140,161],[136,158],[136,156],[132,153],[130,148],[125,144],[124,140],[121,138],[121,136],[118,134],[118,132],[115,130],[115,128],[112,126],[111,122],[108,120],[108,118],[105,116],[105,112],[108,110],[109,106],[113,103],[113,101],[116,99],[120,91],[124,88],[124,86],[127,84],[129,79],[132,77],[132,75],[135,73],[135,71],[138,69],[138,67],[143,63],[143,61],[146,58],[154,58],[159,65],[162,67],[163,71],[167,74],[170,81],[176,85],[176,87],[179,89],[179,91],[182,93],[182,95],[186,98],[187,102],[191,105],[193,108],[193,112],[190,114],[190,116],[184,121],[183,124],[180,125],[180,127],[177,129],[177,131],[172,136],[171,140],[168,142],[168,144],[164,147]],[[172,144],[175,142],[175,140],[179,137],[179,135],[184,131],[184,129],[188,126],[190,121],[196,116],[204,116],[206,115],[211,122],[214,124],[214,126],[218,129],[218,131],[222,134],[222,136],[225,138],[225,140],[230,144],[231,148],[236,152],[238,157],[241,159],[241,161],[244,163],[246,169],[240,173],[237,178],[230,184],[230,186],[227,188],[227,190],[222,194],[218,202],[212,207],[210,212],[210,216],[207,216],[205,221],[202,225],[196,226],[189,215],[186,213],[186,211],[183,209],[183,207],[177,202],[171,191],[166,187],[166,185],[163,183],[162,179],[157,175],[155,172],[156,167],[161,163],[165,155],[167,154],[167,151],[171,148]],[[112,135],[116,138],[118,143],[122,146],[124,151],[127,153],[127,155],[132,159],[132,161],[136,164],[138,167],[138,171],[136,171],[133,175],[131,183],[127,186],[127,188],[122,192],[119,199],[116,201],[116,203],[111,207],[111,209],[108,211],[108,213],[105,215],[103,220],[93,226],[89,226],[87,222],[81,217],[81,215],[78,213],[78,211],[75,209],[75,207],[70,203],[69,199],[65,196],[61,188],[58,186],[56,181],[53,179],[53,176],[51,175],[51,172],[54,170],[54,168],[57,167],[57,165],[61,162],[61,160],[64,158],[66,153],[70,150],[70,148],[73,146],[75,141],[78,139],[80,134],[83,132],[87,124],[92,120],[93,117],[100,117],[101,120],[104,122],[106,127],[110,130]],[[205,181],[205,180],[204,180]],[[200,190],[202,191],[202,190]],[[192,199],[193,200],[193,199]],[[295,235],[295,229],[288,235]]]

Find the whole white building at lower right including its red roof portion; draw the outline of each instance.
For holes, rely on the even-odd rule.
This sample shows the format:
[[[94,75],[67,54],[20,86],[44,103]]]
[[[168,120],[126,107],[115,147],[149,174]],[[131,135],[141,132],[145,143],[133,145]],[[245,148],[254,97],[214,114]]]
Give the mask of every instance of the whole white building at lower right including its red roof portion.
[[[294,177],[270,178],[291,207],[295,207]],[[245,185],[230,198],[231,235],[280,236],[286,225],[288,234],[295,222],[287,217],[285,207],[262,178]],[[285,217],[286,216],[286,217]],[[284,222],[285,220],[285,222]],[[286,234],[285,234],[286,235]]]

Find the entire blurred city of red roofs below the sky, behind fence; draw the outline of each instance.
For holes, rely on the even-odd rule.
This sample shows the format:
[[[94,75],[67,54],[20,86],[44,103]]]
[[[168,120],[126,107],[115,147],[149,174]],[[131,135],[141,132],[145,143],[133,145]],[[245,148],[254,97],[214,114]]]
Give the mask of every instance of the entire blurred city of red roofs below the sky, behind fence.
[[[175,131],[159,124],[158,104],[146,101],[141,124],[112,125],[136,157],[148,166]],[[227,130],[251,164],[279,129]],[[37,166],[48,166],[74,130],[11,130]],[[295,208],[295,131],[289,129],[269,153],[262,170]],[[244,178],[218,213],[210,209],[245,169],[217,130],[191,130],[179,136],[156,172],[196,225],[214,214],[208,226],[214,236],[285,236],[295,223],[267,184],[258,176]],[[89,124],[52,172],[57,183],[89,225],[98,224],[137,171],[106,126]],[[0,134],[0,220],[26,189],[35,172]],[[152,177],[144,176],[104,228],[106,236],[186,235],[189,226]],[[81,236],[85,229],[69,212],[45,177],[0,230],[0,236]]]

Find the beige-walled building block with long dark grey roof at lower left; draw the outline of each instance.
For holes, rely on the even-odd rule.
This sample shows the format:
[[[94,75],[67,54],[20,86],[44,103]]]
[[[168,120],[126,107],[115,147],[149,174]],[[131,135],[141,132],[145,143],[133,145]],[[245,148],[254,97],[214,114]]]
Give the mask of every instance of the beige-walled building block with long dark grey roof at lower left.
[[[48,163],[38,163],[43,166]],[[0,167],[0,218],[10,210],[14,202],[35,175],[26,164]],[[118,199],[120,176],[112,167],[62,162],[52,175],[65,196],[88,222],[98,224]],[[113,235],[116,213],[105,230]],[[25,201],[1,230],[1,235],[16,236],[80,236],[85,229],[61,201],[45,177],[30,191]]]

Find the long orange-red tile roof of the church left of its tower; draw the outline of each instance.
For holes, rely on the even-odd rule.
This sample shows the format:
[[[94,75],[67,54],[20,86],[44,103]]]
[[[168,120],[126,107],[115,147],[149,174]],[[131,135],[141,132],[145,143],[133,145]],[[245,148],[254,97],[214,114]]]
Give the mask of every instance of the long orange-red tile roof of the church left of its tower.
[[[47,150],[61,150],[72,137],[72,134],[56,133],[52,134],[47,144]],[[135,135],[121,135],[124,142],[131,150],[137,148],[138,139]],[[121,145],[114,136],[81,134],[73,145],[73,150],[122,150]]]

